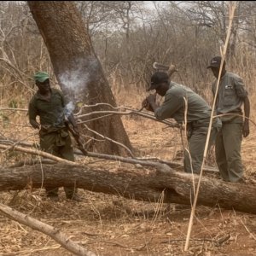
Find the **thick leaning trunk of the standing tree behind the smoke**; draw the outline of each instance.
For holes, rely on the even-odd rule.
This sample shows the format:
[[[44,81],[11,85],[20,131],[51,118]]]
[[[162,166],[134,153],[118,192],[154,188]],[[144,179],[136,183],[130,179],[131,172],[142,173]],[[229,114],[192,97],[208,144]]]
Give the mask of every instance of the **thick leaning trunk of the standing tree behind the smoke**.
[[[27,3],[44,38],[61,90],[75,102],[86,104],[106,102],[116,106],[102,65],[90,43],[88,28],[84,25],[75,3],[71,1],[28,1]],[[101,108],[97,107],[97,110]],[[97,119],[90,122],[89,126],[105,137],[110,137],[131,148],[119,116]],[[89,132],[85,130],[85,133],[88,135]],[[94,134],[90,136],[95,137]],[[109,140],[97,141],[90,144],[90,150],[96,149],[98,152],[108,154],[126,154],[124,148]]]

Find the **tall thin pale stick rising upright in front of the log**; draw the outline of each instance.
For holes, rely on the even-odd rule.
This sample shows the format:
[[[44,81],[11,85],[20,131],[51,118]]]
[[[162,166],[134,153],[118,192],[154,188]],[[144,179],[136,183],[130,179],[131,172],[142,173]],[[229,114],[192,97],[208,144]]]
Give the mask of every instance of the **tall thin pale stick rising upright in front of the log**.
[[[230,22],[229,22],[229,28],[228,28],[228,32],[227,32],[226,41],[225,41],[225,44],[224,44],[224,50],[222,51],[222,58],[221,58],[221,63],[220,63],[220,68],[219,68],[219,73],[218,73],[216,91],[218,91],[218,84],[219,84],[219,80],[220,80],[220,75],[222,73],[222,68],[223,68],[223,64],[224,64],[224,57],[225,57],[226,49],[228,47],[228,43],[229,43],[229,40],[230,40],[230,32],[231,32],[232,20],[234,19],[235,10],[236,10],[236,2],[235,3],[230,3]],[[202,160],[201,172],[200,172],[200,176],[199,176],[198,183],[197,183],[195,199],[193,201],[193,206],[192,206],[191,213],[190,213],[189,228],[188,228],[188,233],[187,233],[187,237],[186,237],[186,243],[185,243],[184,251],[187,251],[188,247],[189,247],[189,239],[190,239],[192,226],[193,226],[193,218],[194,218],[194,215],[195,215],[196,201],[197,201],[198,194],[199,194],[203,167],[204,167],[204,163],[205,163],[205,160],[206,160],[206,157],[207,157],[207,148],[208,148],[210,134],[211,134],[211,130],[212,130],[212,119],[213,119],[213,113],[214,113],[214,109],[215,109],[216,99],[217,99],[217,93],[214,96],[214,100],[213,100],[213,104],[212,104],[212,113],[211,113],[211,118],[210,118],[210,122],[209,122],[208,131],[207,131],[207,141],[206,141],[206,146],[205,146],[205,150],[204,150],[204,157],[203,157],[203,160]]]

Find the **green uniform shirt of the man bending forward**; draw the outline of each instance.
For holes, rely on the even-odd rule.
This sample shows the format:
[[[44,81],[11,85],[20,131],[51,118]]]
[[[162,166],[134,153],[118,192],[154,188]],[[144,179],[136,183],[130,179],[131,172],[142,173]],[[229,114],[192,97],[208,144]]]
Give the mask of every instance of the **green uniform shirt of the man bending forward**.
[[[165,101],[154,111],[157,119],[172,118],[179,124],[184,123],[185,104],[188,104],[187,122],[196,126],[207,126],[211,117],[212,109],[207,102],[188,87],[170,83],[169,90],[166,91]],[[221,126],[219,119],[213,119],[212,126]]]

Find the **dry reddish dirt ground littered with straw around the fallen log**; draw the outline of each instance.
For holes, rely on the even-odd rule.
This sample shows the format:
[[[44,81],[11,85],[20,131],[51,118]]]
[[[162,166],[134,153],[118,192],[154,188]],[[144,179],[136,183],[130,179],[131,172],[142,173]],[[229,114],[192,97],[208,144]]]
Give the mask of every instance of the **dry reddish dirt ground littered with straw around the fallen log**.
[[[254,108],[255,109],[255,108]],[[252,111],[253,112],[253,111]],[[141,117],[124,117],[133,147],[141,156],[174,160],[181,149],[179,132]],[[255,126],[243,140],[242,159],[248,180],[255,175]],[[210,160],[211,161],[211,160]],[[96,165],[134,168],[119,162]],[[125,182],[125,181],[124,181]],[[197,207],[189,243],[184,245],[190,207],[126,200],[113,195],[79,189],[82,202],[45,198],[44,189],[1,192],[0,201],[46,224],[58,227],[68,238],[99,256],[130,255],[256,255],[256,215],[216,207]],[[0,216],[0,256],[73,255],[49,236]]]

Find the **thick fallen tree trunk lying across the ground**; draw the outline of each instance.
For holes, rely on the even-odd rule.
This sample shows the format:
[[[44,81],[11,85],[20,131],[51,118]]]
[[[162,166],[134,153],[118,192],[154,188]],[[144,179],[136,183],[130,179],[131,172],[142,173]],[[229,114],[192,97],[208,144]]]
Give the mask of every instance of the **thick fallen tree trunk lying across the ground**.
[[[121,195],[137,201],[159,201],[191,204],[193,200],[192,175],[183,172],[143,171],[127,168],[109,172],[88,166],[52,165],[43,166],[44,185],[77,186],[94,192]],[[198,176],[195,175],[195,187]],[[42,169],[40,165],[19,168],[0,167],[0,191],[24,189],[28,186],[40,188]],[[225,183],[203,177],[197,201],[198,205],[214,207],[218,204],[226,209],[256,213],[256,189],[242,183]]]

